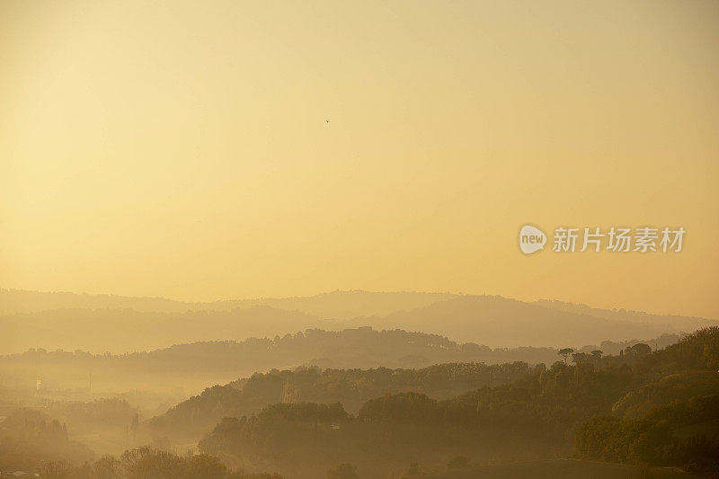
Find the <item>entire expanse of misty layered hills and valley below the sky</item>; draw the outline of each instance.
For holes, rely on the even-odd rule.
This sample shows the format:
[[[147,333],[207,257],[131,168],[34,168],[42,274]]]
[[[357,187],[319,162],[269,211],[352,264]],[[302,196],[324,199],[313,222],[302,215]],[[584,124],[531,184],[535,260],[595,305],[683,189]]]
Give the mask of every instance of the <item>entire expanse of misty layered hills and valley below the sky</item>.
[[[157,346],[177,334],[160,329],[173,328],[173,321],[184,326],[188,318],[197,322],[189,333],[201,330],[203,341],[138,351],[132,350],[138,331],[120,326],[132,324],[138,311],[160,314],[167,304],[2,294],[15,312],[0,316],[9,332],[0,341],[22,344],[31,337],[27,331],[41,339],[0,357],[3,477],[719,473],[719,325],[711,320],[667,316],[658,326],[640,313],[556,302],[355,291],[273,306],[168,308],[162,312],[168,322],[143,326],[155,328]],[[38,295],[48,309],[29,311]],[[244,323],[258,307],[262,319],[274,318],[268,333],[288,331],[244,337]],[[358,312],[363,315],[351,317]],[[54,316],[63,321],[53,323]],[[19,317],[23,327],[11,327]],[[113,337],[104,344],[102,334],[78,325],[77,344],[59,342],[116,352],[38,347],[65,338],[60,330],[72,318],[107,317],[120,320],[106,324]],[[512,331],[546,326],[547,318],[555,328],[536,332],[536,342],[497,345],[503,334],[497,323]],[[454,330],[460,319],[471,329]],[[557,328],[571,327],[565,320],[584,324],[562,332]],[[310,327],[298,332],[293,321]],[[430,323],[447,324],[454,334],[419,332]],[[376,329],[383,325],[406,329]],[[494,347],[481,342],[483,329]],[[626,332],[645,335],[620,339]],[[123,334],[129,346],[120,352]],[[223,334],[222,341],[211,340]],[[584,344],[572,342],[573,334]]]

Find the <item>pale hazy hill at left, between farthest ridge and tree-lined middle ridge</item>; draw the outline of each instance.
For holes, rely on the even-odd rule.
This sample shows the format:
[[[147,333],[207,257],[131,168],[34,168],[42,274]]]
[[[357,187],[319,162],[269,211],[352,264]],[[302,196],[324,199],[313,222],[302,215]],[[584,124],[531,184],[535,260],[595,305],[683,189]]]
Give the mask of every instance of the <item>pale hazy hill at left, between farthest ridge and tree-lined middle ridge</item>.
[[[59,348],[123,353],[186,342],[244,340],[332,327],[333,322],[270,306],[182,313],[54,309],[0,316],[0,329],[6,332],[0,335],[0,348],[5,352]]]

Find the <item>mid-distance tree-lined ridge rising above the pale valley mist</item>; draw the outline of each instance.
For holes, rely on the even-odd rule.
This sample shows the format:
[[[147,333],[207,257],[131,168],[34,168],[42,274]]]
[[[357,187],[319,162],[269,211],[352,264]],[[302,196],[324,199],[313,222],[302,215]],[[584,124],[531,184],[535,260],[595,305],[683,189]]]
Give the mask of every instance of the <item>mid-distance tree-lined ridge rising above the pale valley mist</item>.
[[[203,322],[199,320],[196,327],[201,324]],[[127,329],[132,333],[132,328]],[[679,335],[670,334],[648,342],[661,347],[678,340]],[[635,342],[601,342],[581,347],[581,350],[601,348],[612,352]],[[86,389],[92,375],[93,390],[105,394],[182,388],[187,397],[208,385],[226,384],[238,377],[272,368],[301,365],[334,369],[423,368],[448,362],[501,364],[514,361],[551,364],[556,358],[557,349],[554,348],[491,349],[471,342],[449,341],[436,334],[361,327],[340,332],[307,330],[243,342],[194,342],[129,354],[32,349],[0,357],[0,378],[13,379],[34,389],[35,381],[40,377],[46,391],[58,391]]]

